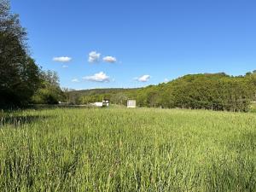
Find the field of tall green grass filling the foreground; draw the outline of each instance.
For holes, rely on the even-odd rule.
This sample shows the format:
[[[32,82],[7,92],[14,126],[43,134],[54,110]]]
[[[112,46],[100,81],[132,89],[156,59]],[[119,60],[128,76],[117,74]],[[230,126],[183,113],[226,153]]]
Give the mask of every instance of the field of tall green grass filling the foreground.
[[[256,191],[256,113],[0,114],[0,191]]]

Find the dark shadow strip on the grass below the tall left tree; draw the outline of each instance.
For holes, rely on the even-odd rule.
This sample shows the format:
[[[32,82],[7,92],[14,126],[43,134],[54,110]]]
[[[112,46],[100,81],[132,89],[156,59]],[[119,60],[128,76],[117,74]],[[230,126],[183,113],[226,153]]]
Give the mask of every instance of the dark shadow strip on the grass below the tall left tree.
[[[44,120],[49,119],[51,116],[41,116],[41,115],[5,115],[0,116],[0,127],[3,125],[14,125],[20,126],[25,124],[32,124],[33,122],[36,122],[38,120]]]

